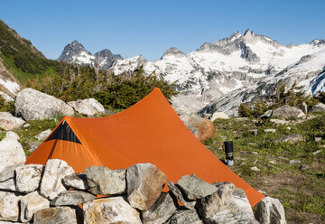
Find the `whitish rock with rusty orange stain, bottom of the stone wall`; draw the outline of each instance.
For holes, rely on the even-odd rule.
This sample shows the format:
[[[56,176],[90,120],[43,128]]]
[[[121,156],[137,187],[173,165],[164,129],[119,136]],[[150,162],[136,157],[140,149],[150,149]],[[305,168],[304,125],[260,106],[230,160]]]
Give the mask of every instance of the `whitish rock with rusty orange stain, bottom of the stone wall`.
[[[84,223],[141,224],[140,214],[122,197],[87,202],[83,205]],[[105,215],[103,215],[105,214]]]

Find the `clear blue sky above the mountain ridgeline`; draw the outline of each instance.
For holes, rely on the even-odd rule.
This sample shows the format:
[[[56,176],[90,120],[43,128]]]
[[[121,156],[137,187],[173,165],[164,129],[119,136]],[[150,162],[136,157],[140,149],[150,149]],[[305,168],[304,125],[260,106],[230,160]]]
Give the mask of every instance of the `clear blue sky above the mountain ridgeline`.
[[[325,39],[324,0],[1,0],[0,19],[51,59],[74,40],[154,61],[250,29],[283,44]]]

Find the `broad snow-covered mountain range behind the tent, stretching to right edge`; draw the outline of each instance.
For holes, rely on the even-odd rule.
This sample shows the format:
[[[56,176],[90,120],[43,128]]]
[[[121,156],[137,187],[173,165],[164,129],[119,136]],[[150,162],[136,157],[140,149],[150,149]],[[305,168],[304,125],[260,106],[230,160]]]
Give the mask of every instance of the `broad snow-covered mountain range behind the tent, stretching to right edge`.
[[[157,61],[143,56],[117,60],[110,69],[116,75],[144,65],[147,74],[177,81],[181,94],[173,106],[181,113],[201,110],[209,116],[223,111],[236,116],[240,102],[263,98],[283,81],[294,81],[307,92],[325,90],[325,41],[283,45],[247,30],[218,42],[206,42],[200,49],[184,54],[177,48],[163,53]]]

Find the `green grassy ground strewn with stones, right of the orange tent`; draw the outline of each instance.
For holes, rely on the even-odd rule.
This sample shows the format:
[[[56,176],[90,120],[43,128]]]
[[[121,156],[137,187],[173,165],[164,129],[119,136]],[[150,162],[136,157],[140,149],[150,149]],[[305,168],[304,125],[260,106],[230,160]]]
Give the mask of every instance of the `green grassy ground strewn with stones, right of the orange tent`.
[[[282,201],[288,223],[325,222],[325,115],[283,125],[249,118],[217,119],[214,124],[217,137],[205,145],[223,160],[222,143],[233,141],[235,165],[231,169],[255,189]],[[276,131],[265,133],[268,128]],[[257,135],[251,130],[258,130]],[[293,134],[301,134],[303,141],[273,141]],[[322,140],[316,142],[314,137]],[[290,164],[292,160],[299,163]],[[251,170],[254,166],[261,171]]]

